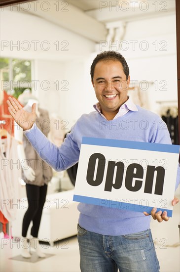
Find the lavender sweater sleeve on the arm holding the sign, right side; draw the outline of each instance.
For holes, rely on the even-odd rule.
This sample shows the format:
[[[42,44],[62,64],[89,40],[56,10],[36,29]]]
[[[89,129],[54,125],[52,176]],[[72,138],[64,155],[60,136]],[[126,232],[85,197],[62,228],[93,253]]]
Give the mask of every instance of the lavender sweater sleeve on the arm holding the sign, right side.
[[[150,142],[172,144],[166,123],[159,117],[156,124],[157,125],[153,125],[151,128]],[[175,190],[178,188],[179,184],[180,184],[180,164],[178,163]]]

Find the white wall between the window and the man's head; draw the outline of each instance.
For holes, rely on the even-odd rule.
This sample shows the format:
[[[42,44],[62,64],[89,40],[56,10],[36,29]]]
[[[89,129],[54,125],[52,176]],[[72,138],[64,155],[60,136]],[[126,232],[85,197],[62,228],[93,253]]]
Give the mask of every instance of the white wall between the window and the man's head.
[[[66,62],[35,61],[36,80],[39,81],[36,94],[40,99],[40,106],[67,120],[69,130],[83,113],[93,111],[92,105],[96,102],[91,85],[90,65],[89,58]],[[45,82],[43,84],[47,78],[50,89],[43,90],[47,87]],[[54,84],[57,81],[59,81],[58,90],[57,84]]]

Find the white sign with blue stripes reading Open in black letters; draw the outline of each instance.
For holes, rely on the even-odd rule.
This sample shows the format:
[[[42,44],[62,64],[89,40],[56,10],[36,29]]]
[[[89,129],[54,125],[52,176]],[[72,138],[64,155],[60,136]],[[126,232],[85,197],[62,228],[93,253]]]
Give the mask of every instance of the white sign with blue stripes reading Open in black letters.
[[[73,201],[150,213],[167,211],[180,146],[83,137]]]

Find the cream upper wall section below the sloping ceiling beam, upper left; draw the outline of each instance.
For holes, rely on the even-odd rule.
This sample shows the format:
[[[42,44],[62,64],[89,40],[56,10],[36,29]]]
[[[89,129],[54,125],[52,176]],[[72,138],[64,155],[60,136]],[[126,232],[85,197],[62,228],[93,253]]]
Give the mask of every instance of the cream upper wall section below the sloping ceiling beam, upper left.
[[[94,50],[94,43],[88,39],[27,12],[3,8],[0,17],[1,41],[9,43],[6,47],[1,46],[1,56],[67,60],[86,56]],[[37,48],[32,41],[37,41]],[[57,41],[59,41],[59,50],[57,50]],[[19,48],[12,47],[17,43]],[[26,50],[28,46],[30,48]]]

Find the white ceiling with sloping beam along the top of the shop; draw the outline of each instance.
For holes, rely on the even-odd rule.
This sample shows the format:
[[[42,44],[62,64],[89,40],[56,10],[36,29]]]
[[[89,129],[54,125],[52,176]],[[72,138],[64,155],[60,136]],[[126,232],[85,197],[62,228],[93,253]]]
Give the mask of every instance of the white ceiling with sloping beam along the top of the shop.
[[[6,2],[28,2],[30,0],[1,0]],[[67,7],[69,12],[57,12],[55,2],[57,0],[48,0],[51,4],[51,8],[48,12],[44,12],[40,8],[40,2],[43,0],[37,0],[37,9],[31,8],[28,13],[48,20],[56,25],[66,28],[76,34],[81,35],[95,43],[99,41],[105,41],[108,33],[108,28],[117,27],[119,23],[127,23],[130,21],[147,19],[152,17],[167,16],[170,13],[175,13],[175,0],[155,1],[159,3],[159,10],[155,11],[154,1],[144,0],[58,0],[59,6],[63,6],[65,2],[68,2]],[[136,2],[136,12],[133,10],[132,2]],[[141,9],[142,3],[148,3],[148,9],[144,12]],[[166,12],[161,12],[160,3],[166,3]],[[126,9],[126,5],[129,8]],[[21,12],[23,11],[20,8]],[[165,9],[164,9],[165,10]],[[63,10],[62,10],[63,11]]]

